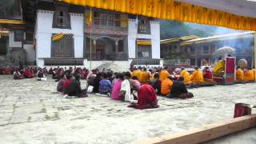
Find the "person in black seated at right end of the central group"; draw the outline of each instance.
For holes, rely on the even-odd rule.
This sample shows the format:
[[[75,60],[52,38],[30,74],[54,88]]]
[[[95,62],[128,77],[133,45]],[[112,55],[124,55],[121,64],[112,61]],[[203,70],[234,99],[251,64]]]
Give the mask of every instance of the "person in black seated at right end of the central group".
[[[186,90],[186,85],[184,83],[184,78],[179,77],[178,81],[174,82],[171,89],[169,98],[192,98],[194,95]]]

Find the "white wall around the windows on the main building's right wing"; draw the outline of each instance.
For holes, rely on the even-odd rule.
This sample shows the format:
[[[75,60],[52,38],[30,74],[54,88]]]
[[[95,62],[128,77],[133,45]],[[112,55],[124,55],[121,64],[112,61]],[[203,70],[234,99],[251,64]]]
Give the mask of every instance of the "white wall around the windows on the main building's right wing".
[[[151,34],[138,34],[134,19],[128,21],[129,58],[136,58],[136,38],[148,38],[152,42],[152,58],[160,58],[160,23],[150,22]]]

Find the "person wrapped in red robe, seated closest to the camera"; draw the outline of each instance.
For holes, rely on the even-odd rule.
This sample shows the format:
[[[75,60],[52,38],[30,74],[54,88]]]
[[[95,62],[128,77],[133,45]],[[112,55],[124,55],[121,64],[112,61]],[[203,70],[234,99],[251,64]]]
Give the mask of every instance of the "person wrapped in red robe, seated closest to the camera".
[[[158,99],[154,88],[148,83],[141,86],[138,90],[138,103],[131,104],[129,107],[134,107],[136,109],[158,108]]]

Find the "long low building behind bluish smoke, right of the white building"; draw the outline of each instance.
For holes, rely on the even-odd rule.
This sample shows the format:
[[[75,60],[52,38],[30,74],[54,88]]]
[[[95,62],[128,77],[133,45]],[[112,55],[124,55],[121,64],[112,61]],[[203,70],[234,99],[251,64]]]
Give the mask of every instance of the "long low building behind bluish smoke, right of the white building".
[[[164,65],[189,64],[190,66],[202,66],[206,63],[214,65],[218,57],[214,52],[222,46],[234,47],[237,61],[245,58],[249,66],[254,63],[254,32],[241,32],[234,34],[219,34],[206,38],[193,38],[188,36],[185,41],[175,41],[181,38],[161,41],[161,58]]]

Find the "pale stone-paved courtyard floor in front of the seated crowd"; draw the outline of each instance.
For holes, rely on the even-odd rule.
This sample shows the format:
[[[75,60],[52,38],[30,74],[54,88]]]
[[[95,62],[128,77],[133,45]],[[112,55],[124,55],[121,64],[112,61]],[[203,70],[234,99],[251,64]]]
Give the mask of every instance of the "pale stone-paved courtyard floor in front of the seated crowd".
[[[256,83],[190,89],[186,100],[158,97],[160,108],[151,110],[95,94],[62,98],[56,85],[0,76],[0,143],[132,143],[233,118],[237,102],[256,104]],[[208,143],[256,143],[256,128]]]

